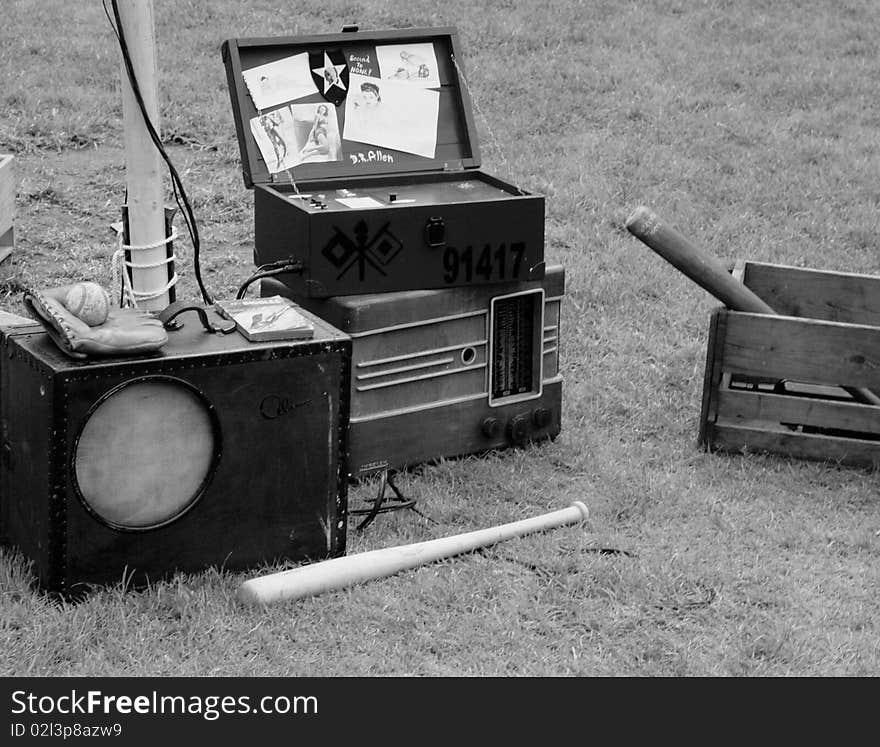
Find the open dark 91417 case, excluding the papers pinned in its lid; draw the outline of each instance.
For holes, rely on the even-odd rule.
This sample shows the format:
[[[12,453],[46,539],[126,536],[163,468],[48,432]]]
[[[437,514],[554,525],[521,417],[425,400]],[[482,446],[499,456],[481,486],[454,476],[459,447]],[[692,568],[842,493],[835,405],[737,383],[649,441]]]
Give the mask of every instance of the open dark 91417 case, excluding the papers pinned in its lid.
[[[378,73],[377,47],[433,45],[440,86],[434,157],[348,140],[333,107],[340,160],[270,173],[250,123],[258,111],[242,71],[304,52],[341,50],[350,69]],[[540,280],[544,198],[480,170],[478,138],[453,28],[353,31],[311,37],[230,39],[223,44],[245,184],[254,189],[255,262],[286,258],[298,296],[449,288]],[[382,83],[379,77],[374,78]],[[350,94],[349,94],[350,95]],[[371,207],[340,200],[369,199]]]

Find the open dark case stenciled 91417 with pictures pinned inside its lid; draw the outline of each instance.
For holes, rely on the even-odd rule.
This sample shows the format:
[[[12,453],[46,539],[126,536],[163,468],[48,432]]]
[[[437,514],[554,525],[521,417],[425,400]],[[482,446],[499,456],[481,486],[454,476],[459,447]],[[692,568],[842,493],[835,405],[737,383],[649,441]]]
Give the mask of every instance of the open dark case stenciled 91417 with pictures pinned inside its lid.
[[[291,260],[294,294],[541,279],[544,198],[480,170],[454,29],[232,39],[223,58],[255,262]]]

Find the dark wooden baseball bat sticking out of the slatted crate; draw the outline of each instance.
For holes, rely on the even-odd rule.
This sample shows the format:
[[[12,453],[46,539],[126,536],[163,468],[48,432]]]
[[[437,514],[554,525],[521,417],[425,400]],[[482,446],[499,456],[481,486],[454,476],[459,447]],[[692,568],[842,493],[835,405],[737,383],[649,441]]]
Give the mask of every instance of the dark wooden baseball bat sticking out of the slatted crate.
[[[633,210],[626,219],[626,229],[728,308],[755,314],[776,314],[768,304],[733,277],[717,257],[691,243],[649,208],[640,206]],[[880,397],[870,389],[847,386],[841,388],[858,402],[880,405]]]

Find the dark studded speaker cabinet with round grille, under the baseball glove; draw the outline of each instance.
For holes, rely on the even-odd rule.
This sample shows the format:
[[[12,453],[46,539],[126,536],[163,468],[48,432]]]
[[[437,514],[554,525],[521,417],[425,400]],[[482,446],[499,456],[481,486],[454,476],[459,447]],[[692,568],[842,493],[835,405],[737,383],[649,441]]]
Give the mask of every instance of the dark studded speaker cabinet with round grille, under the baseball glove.
[[[42,587],[134,585],[345,551],[351,340],[252,343],[184,319],[152,356],[0,337],[4,540]]]

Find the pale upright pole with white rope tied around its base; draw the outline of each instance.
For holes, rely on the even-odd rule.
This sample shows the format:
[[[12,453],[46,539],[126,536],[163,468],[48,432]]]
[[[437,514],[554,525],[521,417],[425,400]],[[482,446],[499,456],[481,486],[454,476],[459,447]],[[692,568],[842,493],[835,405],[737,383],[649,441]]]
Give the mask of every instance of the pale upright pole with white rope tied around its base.
[[[117,0],[119,18],[135,78],[156,132],[159,129],[159,93],[156,67],[156,39],[152,0]],[[138,106],[122,61],[122,113],[125,129],[125,186],[128,190],[128,243],[131,246],[155,248],[135,250],[131,261],[149,267],[133,267],[132,290],[138,306],[148,311],[164,309],[169,303],[169,268],[163,264],[167,249],[165,239],[165,206],[162,183],[162,162],[150,139],[144,116]],[[140,295],[145,294],[145,295]]]

